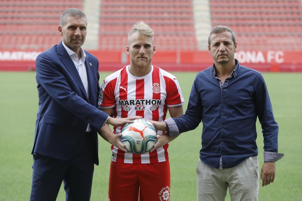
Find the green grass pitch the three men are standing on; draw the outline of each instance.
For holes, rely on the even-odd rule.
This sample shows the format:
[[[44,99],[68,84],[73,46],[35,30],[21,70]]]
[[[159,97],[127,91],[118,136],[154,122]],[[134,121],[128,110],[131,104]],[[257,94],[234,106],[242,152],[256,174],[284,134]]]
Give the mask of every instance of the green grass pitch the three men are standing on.
[[[101,81],[110,72],[101,72]],[[185,97],[187,108],[196,72],[172,72]],[[261,187],[259,200],[295,201],[302,199],[300,155],[302,130],[302,74],[263,73],[279,124],[278,151],[285,154],[276,162],[276,178],[273,184]],[[38,96],[35,72],[0,72],[0,200],[29,200],[32,176],[31,149],[34,141]],[[170,143],[171,200],[196,200],[196,166],[201,148],[199,125],[193,131],[182,133]],[[257,123],[259,171],[263,163],[263,137]],[[99,137],[100,165],[95,166],[92,201],[108,200],[108,178],[111,161],[109,143]],[[65,200],[63,186],[57,200]],[[226,200],[230,200],[229,194]]]

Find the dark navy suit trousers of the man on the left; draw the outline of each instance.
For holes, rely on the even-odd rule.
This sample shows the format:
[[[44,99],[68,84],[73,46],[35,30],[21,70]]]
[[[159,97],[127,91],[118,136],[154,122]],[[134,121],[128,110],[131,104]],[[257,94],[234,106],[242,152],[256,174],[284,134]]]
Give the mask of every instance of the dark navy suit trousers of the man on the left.
[[[89,201],[94,171],[92,135],[69,160],[35,154],[30,201],[55,201],[62,181],[67,201]]]

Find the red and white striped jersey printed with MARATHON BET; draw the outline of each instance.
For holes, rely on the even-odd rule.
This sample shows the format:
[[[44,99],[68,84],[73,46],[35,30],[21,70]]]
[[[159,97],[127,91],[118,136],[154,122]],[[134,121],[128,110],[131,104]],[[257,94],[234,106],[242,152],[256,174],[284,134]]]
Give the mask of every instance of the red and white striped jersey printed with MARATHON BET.
[[[164,121],[167,106],[183,105],[185,100],[177,79],[170,73],[152,66],[144,77],[134,77],[125,66],[104,79],[101,85],[99,108],[113,108],[115,118],[133,115],[154,121]],[[121,127],[114,127],[114,133],[120,133]],[[162,135],[162,131],[157,131]],[[156,149],[152,153],[141,155],[125,153],[111,145],[114,162],[120,163],[156,163],[168,159],[168,146]]]

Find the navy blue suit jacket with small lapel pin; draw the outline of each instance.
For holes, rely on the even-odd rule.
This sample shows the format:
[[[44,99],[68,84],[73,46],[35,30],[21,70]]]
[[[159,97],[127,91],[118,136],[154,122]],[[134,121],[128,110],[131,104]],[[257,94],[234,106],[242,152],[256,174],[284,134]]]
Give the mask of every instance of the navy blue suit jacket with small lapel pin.
[[[86,52],[89,99],[76,67],[62,42],[36,59],[39,96],[33,153],[68,160],[84,140],[88,123],[94,135],[94,163],[98,165],[98,135],[108,115],[97,108],[98,60]],[[90,65],[91,64],[91,65]]]

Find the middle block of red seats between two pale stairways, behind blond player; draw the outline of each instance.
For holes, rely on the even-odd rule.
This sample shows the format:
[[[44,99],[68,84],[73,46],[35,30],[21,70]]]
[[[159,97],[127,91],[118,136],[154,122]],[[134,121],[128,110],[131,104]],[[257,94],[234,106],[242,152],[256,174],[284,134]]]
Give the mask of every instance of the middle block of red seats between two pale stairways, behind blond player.
[[[149,24],[159,50],[197,50],[191,0],[102,0],[101,50],[124,50],[127,34],[137,21]]]

